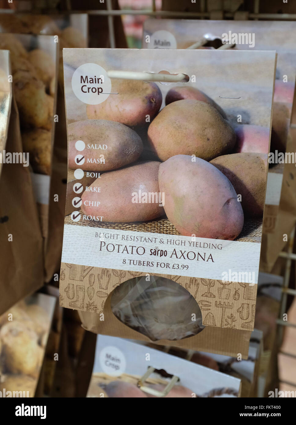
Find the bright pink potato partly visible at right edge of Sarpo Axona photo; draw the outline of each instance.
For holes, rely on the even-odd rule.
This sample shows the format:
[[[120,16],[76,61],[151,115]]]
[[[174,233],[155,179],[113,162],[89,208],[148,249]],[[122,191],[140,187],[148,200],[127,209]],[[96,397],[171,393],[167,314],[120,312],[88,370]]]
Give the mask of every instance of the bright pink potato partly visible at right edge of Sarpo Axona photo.
[[[235,128],[237,145],[234,153],[268,153],[269,128],[261,125],[240,124]]]

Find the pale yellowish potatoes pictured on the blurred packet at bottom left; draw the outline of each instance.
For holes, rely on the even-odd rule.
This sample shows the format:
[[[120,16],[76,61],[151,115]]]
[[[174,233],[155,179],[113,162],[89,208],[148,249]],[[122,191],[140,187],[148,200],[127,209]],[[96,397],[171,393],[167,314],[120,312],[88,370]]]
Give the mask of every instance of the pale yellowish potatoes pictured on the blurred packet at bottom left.
[[[0,316],[0,390],[34,397],[47,342],[49,319],[37,304],[20,302]]]

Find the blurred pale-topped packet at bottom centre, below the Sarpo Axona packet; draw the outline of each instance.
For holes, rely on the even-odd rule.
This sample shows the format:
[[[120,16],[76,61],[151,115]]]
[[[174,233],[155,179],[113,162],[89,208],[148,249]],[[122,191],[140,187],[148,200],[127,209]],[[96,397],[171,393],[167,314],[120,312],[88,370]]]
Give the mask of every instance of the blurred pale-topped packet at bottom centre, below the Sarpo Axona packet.
[[[172,381],[177,382],[165,391]],[[87,397],[240,397],[240,383],[153,348],[98,335]]]

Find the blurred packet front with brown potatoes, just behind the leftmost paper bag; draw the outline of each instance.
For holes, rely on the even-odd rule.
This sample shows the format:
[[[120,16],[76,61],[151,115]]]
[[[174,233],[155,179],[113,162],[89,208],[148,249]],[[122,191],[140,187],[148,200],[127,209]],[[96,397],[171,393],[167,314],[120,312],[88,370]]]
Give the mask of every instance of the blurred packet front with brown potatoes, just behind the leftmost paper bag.
[[[48,204],[56,110],[57,44],[54,37],[0,34],[11,51],[14,94],[20,114],[25,166],[30,165],[42,235],[48,236]]]

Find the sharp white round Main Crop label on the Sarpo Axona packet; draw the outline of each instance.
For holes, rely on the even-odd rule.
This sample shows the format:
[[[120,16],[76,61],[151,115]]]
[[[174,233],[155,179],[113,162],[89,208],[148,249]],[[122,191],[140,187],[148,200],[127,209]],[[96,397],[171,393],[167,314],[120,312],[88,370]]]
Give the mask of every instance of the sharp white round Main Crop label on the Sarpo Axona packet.
[[[84,63],[74,71],[72,89],[75,96],[82,102],[98,105],[111,93],[111,80],[100,65]]]

